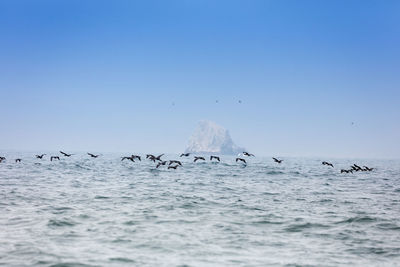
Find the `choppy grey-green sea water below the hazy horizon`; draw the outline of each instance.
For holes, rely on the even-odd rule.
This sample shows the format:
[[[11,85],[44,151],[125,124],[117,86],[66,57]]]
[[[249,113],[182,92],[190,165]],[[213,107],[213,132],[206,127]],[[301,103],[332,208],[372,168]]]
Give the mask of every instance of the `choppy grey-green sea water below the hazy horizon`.
[[[400,266],[399,161],[1,155],[0,265]]]

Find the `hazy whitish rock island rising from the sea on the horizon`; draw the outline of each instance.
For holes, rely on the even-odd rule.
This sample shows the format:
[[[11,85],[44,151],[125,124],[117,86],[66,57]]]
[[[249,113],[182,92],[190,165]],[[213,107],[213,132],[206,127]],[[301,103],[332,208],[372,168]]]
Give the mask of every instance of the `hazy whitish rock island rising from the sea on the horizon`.
[[[212,121],[200,121],[189,139],[186,153],[236,155],[244,148],[236,146],[229,132]]]

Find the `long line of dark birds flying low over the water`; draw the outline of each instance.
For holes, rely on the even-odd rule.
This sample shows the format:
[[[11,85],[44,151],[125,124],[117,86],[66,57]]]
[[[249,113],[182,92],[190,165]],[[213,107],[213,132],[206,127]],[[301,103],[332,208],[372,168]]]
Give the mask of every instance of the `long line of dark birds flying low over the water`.
[[[63,151],[60,151],[60,153],[64,156],[64,157],[71,157],[72,155],[74,155],[74,154],[68,154],[68,153],[65,153],[65,152],[63,152]],[[96,155],[96,154],[92,154],[92,153],[87,153],[88,154],[88,156],[90,156],[91,158],[97,158],[97,157],[99,157],[100,155]],[[242,153],[243,154],[243,156],[247,156],[247,157],[254,157],[254,154],[251,154],[251,153],[249,153],[249,152],[243,152]],[[40,155],[36,155],[35,157],[37,158],[37,159],[43,159],[43,157],[45,156],[46,154],[40,154]],[[191,155],[191,153],[182,153],[181,155],[180,155],[180,157],[189,157]],[[240,155],[240,154],[239,154]],[[158,155],[158,156],[154,156],[154,155],[152,155],[152,154],[147,154],[146,155],[146,159],[148,159],[148,160],[151,160],[151,161],[153,161],[154,163],[157,163],[157,165],[156,165],[156,168],[158,169],[160,166],[167,166],[167,164],[168,164],[168,169],[177,169],[179,166],[182,166],[182,162],[181,161],[179,161],[179,160],[169,160],[169,161],[164,161],[164,160],[162,160],[161,159],[161,157],[162,156],[164,156],[164,154],[161,154],[161,155]],[[282,163],[282,161],[283,161],[283,159],[277,159],[277,158],[272,158],[273,160],[274,160],[274,162],[276,162],[276,163],[278,163],[278,164],[281,164]],[[5,161],[6,160],[6,158],[5,157],[2,157],[2,156],[0,156],[0,163],[1,162],[3,162],[3,161]],[[55,160],[60,160],[60,156],[50,156],[50,161],[55,161]],[[138,155],[131,155],[131,156],[125,156],[125,157],[122,157],[121,158],[121,161],[124,161],[124,160],[130,160],[130,161],[132,161],[132,162],[135,162],[136,160],[139,160],[139,161],[142,161],[142,158],[141,158],[141,156],[138,156]],[[17,159],[15,159],[15,162],[21,162],[22,161],[22,159],[20,159],[20,158],[17,158]],[[204,158],[204,157],[201,157],[201,156],[194,156],[194,159],[193,159],[193,162],[197,162],[197,161],[206,161],[206,159]],[[214,162],[220,162],[221,161],[221,159],[220,159],[220,157],[219,156],[210,156],[210,161],[214,161]],[[244,159],[244,158],[240,158],[240,157],[237,157],[236,159],[235,159],[235,161],[236,162],[241,162],[241,163],[243,163],[243,164],[247,164],[247,162],[246,162],[246,160]],[[322,162],[322,165],[325,165],[325,166],[329,166],[329,167],[332,167],[332,168],[334,168],[334,166],[333,166],[333,164],[332,163],[329,163],[329,162],[327,162],[327,161],[323,161]],[[369,168],[369,167],[367,167],[367,166],[363,166],[362,168],[360,167],[360,166],[358,166],[358,165],[356,165],[356,164],[353,164],[352,166],[350,166],[350,169],[341,169],[340,170],[340,173],[353,173],[354,171],[355,172],[358,172],[358,171],[372,171],[372,170],[374,170],[374,168]]]

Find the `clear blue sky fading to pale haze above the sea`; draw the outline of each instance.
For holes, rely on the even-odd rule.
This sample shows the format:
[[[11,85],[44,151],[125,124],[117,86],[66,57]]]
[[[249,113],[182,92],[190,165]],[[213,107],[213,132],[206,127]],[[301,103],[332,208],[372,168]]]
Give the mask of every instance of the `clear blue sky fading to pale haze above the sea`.
[[[0,148],[181,152],[208,119],[258,155],[400,158],[399,14],[400,1],[1,1]]]

